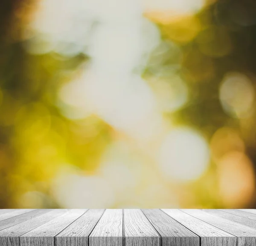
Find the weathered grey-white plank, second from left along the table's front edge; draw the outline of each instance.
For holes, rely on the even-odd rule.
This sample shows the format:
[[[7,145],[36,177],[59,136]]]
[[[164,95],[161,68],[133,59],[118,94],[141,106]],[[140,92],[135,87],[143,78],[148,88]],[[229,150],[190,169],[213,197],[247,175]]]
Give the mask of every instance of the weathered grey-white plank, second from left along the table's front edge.
[[[54,246],[54,237],[86,212],[87,209],[68,209],[63,215],[20,236],[20,246]]]

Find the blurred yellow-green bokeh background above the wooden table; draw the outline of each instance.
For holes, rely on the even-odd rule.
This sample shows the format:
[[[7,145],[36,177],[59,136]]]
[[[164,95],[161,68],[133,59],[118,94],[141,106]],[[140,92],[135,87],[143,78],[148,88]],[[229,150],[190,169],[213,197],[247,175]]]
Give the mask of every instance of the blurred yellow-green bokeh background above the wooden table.
[[[1,0],[1,208],[256,206],[255,0]]]

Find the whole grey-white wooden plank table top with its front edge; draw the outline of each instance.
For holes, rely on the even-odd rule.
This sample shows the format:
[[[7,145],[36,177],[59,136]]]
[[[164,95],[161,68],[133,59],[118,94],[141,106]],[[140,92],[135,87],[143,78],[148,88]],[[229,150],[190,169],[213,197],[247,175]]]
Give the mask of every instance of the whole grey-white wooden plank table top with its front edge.
[[[0,246],[256,246],[255,209],[0,209]]]

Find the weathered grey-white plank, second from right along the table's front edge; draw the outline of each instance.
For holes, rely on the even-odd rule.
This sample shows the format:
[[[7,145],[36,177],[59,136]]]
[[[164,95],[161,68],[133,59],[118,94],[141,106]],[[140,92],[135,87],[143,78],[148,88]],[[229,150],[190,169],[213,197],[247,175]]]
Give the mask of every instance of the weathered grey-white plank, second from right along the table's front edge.
[[[201,246],[235,246],[237,237],[179,209],[161,209],[183,226],[201,237]]]

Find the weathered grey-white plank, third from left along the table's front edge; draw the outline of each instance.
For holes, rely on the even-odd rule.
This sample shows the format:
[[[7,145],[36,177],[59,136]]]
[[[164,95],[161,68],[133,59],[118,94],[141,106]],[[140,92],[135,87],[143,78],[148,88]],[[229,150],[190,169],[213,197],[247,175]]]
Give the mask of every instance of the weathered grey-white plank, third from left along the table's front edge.
[[[88,237],[105,209],[89,209],[55,236],[56,246],[88,246]]]

